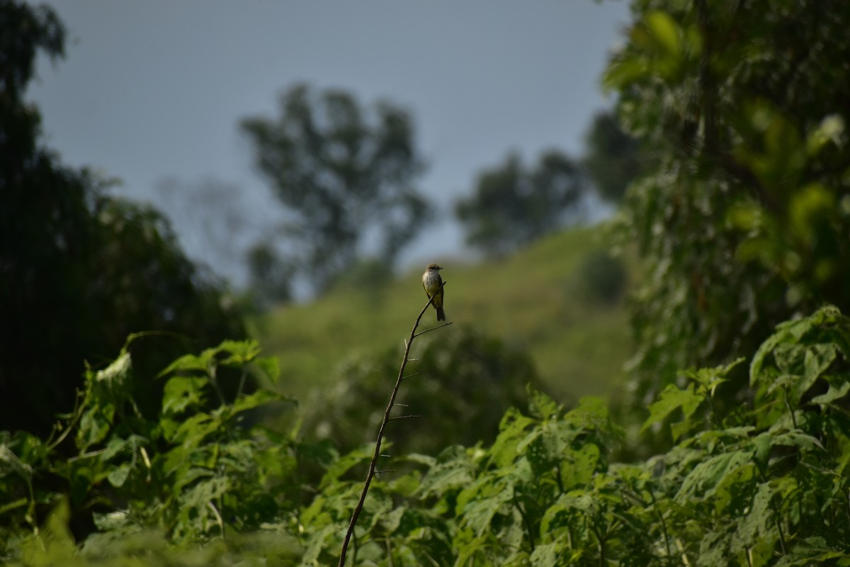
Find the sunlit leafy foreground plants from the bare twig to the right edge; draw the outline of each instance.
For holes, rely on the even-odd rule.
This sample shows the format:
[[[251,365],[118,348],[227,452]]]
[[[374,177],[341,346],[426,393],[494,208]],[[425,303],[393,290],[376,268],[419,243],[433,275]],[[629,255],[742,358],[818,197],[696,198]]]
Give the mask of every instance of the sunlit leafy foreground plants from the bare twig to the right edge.
[[[667,388],[644,428],[674,417],[677,445],[633,464],[613,462],[624,437],[601,400],[564,411],[530,391],[489,447],[409,456],[421,473],[373,483],[357,564],[850,564],[850,319],[779,326],[753,357],[753,404],[717,413],[737,364]],[[343,458],[301,516],[303,564],[337,552],[356,496],[338,475],[366,458]]]

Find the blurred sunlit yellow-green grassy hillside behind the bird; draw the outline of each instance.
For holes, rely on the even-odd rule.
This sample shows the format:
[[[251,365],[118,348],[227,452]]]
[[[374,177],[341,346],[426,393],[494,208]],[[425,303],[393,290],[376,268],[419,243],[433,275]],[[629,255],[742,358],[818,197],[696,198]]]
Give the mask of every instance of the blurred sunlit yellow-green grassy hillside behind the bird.
[[[632,343],[622,300],[593,298],[581,277],[588,254],[606,249],[602,235],[598,227],[569,230],[480,264],[433,258],[444,268],[445,310],[454,323],[439,332],[473,326],[525,350],[558,399],[611,394],[621,385]],[[392,345],[400,356],[427,300],[419,281],[423,268],[392,281],[366,281],[358,290],[337,289],[255,320],[264,353],[280,358],[280,388],[304,400],[311,388],[336,380],[337,366],[349,356]],[[433,310],[423,322],[435,324]]]

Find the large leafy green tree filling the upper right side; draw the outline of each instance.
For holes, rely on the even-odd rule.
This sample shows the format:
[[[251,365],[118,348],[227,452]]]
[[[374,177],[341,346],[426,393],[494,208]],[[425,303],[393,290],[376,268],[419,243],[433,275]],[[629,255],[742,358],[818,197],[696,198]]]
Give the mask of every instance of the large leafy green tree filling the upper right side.
[[[679,368],[755,352],[782,320],[850,309],[850,9],[641,0],[632,14],[605,82],[658,158],[626,196],[624,237],[646,259],[640,405]]]

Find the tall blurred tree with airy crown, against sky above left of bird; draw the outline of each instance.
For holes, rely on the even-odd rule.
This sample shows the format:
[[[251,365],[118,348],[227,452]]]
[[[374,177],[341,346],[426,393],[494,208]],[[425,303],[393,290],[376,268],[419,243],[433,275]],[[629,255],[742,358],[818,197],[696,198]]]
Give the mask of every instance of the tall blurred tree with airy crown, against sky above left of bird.
[[[392,265],[431,218],[412,186],[423,165],[411,116],[386,102],[369,110],[346,92],[316,96],[299,84],[281,96],[280,117],[241,122],[286,207],[286,259],[319,290],[354,264],[365,236],[377,236]]]

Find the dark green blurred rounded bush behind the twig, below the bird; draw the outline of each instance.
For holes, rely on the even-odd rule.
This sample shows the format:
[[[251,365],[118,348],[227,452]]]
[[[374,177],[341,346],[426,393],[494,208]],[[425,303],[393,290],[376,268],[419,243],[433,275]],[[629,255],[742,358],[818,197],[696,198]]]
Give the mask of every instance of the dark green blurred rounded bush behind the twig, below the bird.
[[[528,356],[472,329],[446,329],[422,337],[400,388],[398,415],[419,417],[392,425],[394,453],[436,454],[445,439],[472,445],[491,442],[502,413],[525,398],[525,384],[539,387]],[[387,406],[388,385],[398,372],[399,352],[355,356],[337,371],[332,388],[305,403],[303,432],[329,439],[340,452],[375,440]]]

